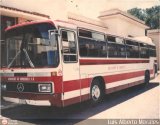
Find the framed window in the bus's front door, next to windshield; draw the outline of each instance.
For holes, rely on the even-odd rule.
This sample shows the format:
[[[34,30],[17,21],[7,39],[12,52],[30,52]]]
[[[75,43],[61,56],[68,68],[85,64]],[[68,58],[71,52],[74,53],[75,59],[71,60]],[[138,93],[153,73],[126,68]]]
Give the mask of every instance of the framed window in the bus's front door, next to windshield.
[[[75,33],[69,30],[62,30],[62,53],[64,62],[76,62],[76,39]]]

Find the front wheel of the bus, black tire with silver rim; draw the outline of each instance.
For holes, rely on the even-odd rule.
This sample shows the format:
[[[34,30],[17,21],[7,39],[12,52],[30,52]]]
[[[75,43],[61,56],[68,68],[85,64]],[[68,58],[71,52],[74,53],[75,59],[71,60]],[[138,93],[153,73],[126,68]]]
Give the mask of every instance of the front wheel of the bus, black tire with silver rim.
[[[90,89],[91,103],[97,104],[102,101],[104,92],[103,87],[100,84],[100,80],[94,79]]]

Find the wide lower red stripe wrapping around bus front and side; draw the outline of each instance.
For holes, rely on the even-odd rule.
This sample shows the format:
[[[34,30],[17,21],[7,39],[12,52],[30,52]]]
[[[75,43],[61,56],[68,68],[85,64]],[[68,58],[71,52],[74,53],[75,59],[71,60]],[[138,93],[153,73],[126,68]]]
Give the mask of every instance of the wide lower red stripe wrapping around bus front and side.
[[[150,74],[153,73],[153,70],[150,70]],[[102,76],[106,84],[117,82],[121,80],[136,78],[139,76],[144,76],[145,71],[130,72],[130,73],[121,73],[115,75]],[[52,82],[54,83],[55,93],[69,92],[73,90],[83,89],[90,87],[93,78],[77,79],[70,81],[62,81],[63,76],[52,76],[52,77],[33,77],[34,81],[9,81],[9,82]],[[10,77],[8,77],[10,78]],[[27,77],[26,77],[27,78]],[[7,82],[7,77],[2,77],[4,82]],[[2,80],[2,81],[3,81]],[[34,83],[33,83],[34,84]]]

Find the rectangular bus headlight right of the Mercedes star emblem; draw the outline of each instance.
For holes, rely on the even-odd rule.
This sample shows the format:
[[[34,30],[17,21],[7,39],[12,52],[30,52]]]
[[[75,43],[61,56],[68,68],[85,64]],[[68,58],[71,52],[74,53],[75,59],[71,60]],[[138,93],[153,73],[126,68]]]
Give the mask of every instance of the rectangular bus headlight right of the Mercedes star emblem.
[[[52,86],[51,84],[38,84],[38,90],[39,92],[52,92]]]

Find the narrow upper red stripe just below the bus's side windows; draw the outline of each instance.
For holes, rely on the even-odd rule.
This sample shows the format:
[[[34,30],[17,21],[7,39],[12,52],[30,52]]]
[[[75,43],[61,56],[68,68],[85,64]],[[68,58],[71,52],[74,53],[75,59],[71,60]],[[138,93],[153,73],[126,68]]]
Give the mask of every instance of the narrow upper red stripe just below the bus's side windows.
[[[149,63],[149,60],[98,60],[98,59],[80,59],[80,65],[94,64],[128,64],[128,63]]]

